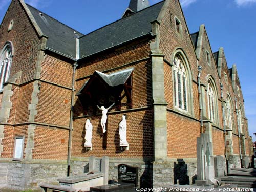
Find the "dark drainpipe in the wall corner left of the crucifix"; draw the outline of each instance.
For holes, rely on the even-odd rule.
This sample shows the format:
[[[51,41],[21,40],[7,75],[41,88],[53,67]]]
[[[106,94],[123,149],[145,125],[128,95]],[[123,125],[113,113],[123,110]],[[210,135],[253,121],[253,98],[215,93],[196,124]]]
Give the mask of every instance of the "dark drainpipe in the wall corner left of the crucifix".
[[[73,64],[72,75],[72,95],[71,95],[71,108],[70,108],[70,120],[69,120],[69,145],[68,145],[68,171],[67,176],[70,176],[70,159],[71,159],[71,145],[72,145],[72,130],[73,130],[73,108],[75,99],[75,74],[76,74],[77,62]]]

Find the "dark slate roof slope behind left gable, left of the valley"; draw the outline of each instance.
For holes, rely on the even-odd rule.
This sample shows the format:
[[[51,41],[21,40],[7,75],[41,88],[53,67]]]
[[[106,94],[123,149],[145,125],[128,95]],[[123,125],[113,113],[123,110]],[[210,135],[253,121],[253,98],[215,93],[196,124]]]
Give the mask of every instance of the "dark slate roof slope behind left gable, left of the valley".
[[[34,16],[36,23],[44,33],[48,36],[46,47],[58,51],[67,56],[76,58],[76,34],[74,29],[65,24],[58,22],[58,20],[40,12],[34,7],[28,5],[28,8]],[[82,33],[76,32],[77,35],[83,36]]]

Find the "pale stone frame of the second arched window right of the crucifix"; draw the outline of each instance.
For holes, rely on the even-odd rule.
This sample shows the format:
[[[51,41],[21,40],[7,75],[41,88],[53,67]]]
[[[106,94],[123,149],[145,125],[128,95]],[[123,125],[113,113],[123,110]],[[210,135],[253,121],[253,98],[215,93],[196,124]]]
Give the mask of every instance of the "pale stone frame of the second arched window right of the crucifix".
[[[208,119],[214,123],[219,124],[218,116],[218,93],[216,88],[216,83],[214,79],[210,76],[207,79],[207,107],[208,107]]]

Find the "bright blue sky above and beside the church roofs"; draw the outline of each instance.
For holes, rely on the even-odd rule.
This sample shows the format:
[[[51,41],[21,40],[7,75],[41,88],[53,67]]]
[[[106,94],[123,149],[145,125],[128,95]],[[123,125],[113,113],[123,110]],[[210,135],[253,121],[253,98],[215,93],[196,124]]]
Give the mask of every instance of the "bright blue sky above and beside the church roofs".
[[[151,5],[159,0],[149,0]],[[173,0],[175,1],[175,0]],[[0,21],[11,0],[0,0]],[[130,0],[25,0],[60,22],[87,34],[121,17]],[[61,2],[61,3],[60,3]],[[224,48],[236,63],[249,132],[256,141],[256,0],[181,0],[190,33],[205,24],[212,51]]]

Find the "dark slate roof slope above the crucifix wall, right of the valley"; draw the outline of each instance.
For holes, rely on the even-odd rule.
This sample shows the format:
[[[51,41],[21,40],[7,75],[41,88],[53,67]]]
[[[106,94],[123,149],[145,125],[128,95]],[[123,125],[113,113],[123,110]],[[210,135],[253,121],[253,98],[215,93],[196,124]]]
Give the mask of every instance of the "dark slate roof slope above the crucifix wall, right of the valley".
[[[80,58],[151,33],[150,22],[157,19],[163,4],[159,2],[81,37]]]

